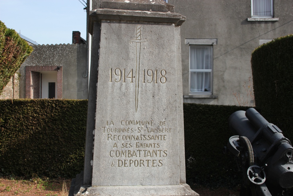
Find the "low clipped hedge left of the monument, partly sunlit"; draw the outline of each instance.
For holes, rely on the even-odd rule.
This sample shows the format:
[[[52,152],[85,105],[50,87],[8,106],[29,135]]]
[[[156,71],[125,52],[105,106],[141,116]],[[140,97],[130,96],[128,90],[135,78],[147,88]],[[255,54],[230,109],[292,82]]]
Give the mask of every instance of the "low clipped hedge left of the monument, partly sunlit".
[[[72,178],[83,170],[87,100],[0,100],[0,173]]]

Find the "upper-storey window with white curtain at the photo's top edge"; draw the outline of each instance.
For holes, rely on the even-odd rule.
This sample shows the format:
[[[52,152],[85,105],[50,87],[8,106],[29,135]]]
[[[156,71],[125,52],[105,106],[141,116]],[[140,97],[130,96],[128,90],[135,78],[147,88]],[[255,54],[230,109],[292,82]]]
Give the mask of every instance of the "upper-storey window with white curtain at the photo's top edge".
[[[273,0],[251,0],[251,17],[272,18]]]

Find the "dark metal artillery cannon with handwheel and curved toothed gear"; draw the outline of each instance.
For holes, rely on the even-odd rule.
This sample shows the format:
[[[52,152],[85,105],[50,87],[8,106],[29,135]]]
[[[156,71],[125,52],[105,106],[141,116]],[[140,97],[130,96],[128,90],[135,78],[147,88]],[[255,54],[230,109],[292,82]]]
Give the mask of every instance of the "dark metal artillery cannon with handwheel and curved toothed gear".
[[[240,196],[293,195],[293,148],[282,131],[254,108],[234,112],[228,124],[236,136],[224,149],[243,172]]]

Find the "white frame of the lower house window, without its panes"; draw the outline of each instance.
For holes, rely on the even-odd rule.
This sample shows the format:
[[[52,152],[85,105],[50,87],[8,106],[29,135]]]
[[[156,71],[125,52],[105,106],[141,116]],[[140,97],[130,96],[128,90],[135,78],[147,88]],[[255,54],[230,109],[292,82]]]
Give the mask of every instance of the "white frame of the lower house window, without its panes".
[[[198,46],[198,47],[211,47],[211,69],[190,69],[190,57],[191,57],[191,47],[194,47],[194,46]],[[190,95],[212,95],[213,94],[213,68],[214,68],[214,63],[213,63],[213,50],[214,50],[214,47],[213,47],[213,44],[189,44],[189,88],[188,88],[188,91],[189,91],[189,94]],[[190,88],[191,88],[191,73],[193,72],[210,72],[211,75],[210,75],[210,91],[208,92],[193,92],[193,91],[190,91]]]

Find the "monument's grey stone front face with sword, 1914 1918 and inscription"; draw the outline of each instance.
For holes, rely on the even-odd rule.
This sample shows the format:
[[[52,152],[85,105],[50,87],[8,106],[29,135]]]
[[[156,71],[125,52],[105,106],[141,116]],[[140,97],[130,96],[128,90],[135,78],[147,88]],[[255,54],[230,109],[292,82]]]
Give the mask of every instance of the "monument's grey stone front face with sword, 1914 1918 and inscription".
[[[178,185],[175,25],[101,29],[92,185]]]

